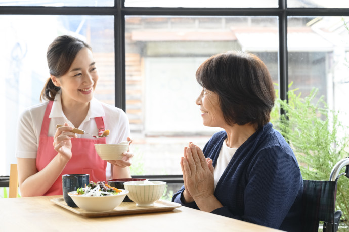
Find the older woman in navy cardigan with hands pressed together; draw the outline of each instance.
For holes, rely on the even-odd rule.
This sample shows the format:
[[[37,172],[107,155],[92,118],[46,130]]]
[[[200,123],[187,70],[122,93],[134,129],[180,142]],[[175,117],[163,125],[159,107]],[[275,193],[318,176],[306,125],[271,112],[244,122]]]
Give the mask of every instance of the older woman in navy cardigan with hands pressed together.
[[[172,201],[267,227],[299,231],[303,179],[290,146],[269,122],[274,87],[255,55],[227,52],[196,72],[205,126],[221,127],[181,158],[184,186]]]

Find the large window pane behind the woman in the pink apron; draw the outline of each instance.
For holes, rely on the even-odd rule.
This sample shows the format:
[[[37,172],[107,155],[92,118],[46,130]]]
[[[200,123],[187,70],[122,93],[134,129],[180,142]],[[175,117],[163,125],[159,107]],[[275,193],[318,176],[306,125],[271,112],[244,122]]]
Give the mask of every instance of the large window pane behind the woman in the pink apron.
[[[33,26],[35,25],[35,26]],[[18,114],[39,103],[41,90],[50,77],[46,52],[53,39],[62,34],[79,37],[91,44],[99,69],[95,97],[114,105],[114,18],[113,16],[26,16],[0,15],[0,120],[4,131],[16,131]],[[2,133],[0,175],[9,174],[17,163],[15,141]]]

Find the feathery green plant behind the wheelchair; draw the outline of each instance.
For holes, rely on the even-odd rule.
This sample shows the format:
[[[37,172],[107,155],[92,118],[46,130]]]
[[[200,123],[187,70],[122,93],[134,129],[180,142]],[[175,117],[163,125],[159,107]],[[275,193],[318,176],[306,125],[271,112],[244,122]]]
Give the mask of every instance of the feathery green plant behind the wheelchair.
[[[281,101],[277,96],[271,122],[292,147],[303,179],[329,180],[333,166],[348,157],[347,127],[338,120],[339,112],[328,109],[323,97],[316,101],[317,89],[304,98],[296,94],[297,91],[288,92],[288,102]],[[280,108],[286,113],[280,115]],[[348,189],[349,181],[339,178],[336,206],[343,212],[342,218],[346,223],[349,215]]]

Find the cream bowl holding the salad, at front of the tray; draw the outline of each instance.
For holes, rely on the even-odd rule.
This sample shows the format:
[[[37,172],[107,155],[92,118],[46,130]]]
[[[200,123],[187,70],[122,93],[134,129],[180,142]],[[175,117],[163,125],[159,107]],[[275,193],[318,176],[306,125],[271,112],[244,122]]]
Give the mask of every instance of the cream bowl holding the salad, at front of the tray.
[[[116,195],[89,197],[82,195],[73,195],[76,191],[69,192],[68,195],[80,209],[89,212],[104,212],[113,210],[119,206],[122,200],[128,194],[128,190],[122,190]]]

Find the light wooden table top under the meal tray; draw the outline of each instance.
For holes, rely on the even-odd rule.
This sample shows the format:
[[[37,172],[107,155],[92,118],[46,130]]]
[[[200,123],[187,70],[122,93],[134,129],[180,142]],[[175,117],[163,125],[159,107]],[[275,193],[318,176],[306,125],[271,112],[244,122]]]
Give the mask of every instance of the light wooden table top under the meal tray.
[[[187,207],[168,212],[84,217],[50,201],[62,196],[0,199],[0,231],[279,231]]]

